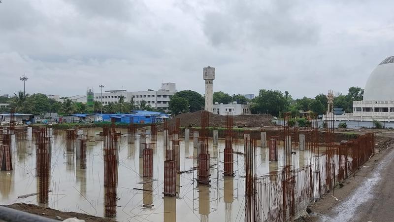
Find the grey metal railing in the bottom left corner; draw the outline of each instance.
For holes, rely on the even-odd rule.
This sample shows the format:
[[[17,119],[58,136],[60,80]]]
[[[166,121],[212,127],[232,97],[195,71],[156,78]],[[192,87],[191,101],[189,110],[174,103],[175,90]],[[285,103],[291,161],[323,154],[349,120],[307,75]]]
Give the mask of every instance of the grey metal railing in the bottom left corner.
[[[6,222],[57,222],[56,220],[0,206],[0,221]]]

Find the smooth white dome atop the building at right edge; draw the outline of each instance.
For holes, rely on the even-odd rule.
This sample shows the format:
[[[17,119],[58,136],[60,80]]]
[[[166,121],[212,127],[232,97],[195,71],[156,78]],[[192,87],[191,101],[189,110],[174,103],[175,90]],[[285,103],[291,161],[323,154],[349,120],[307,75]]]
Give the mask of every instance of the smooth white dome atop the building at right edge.
[[[394,99],[394,56],[383,60],[369,75],[363,100]]]

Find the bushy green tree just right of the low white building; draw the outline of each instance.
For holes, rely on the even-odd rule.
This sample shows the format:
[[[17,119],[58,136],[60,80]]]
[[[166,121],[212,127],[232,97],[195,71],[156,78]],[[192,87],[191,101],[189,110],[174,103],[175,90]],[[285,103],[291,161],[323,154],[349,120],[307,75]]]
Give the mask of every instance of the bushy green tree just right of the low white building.
[[[261,89],[259,95],[254,99],[251,111],[253,113],[270,113],[278,116],[285,105],[285,97],[278,90]]]

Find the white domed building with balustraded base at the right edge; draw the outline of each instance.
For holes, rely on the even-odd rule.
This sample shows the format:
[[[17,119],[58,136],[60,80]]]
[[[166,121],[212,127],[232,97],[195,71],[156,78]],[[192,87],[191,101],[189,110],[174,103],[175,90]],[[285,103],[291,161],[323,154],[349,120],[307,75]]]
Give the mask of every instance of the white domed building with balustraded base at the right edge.
[[[394,56],[373,70],[365,84],[363,100],[353,101],[353,113],[335,116],[335,120],[361,121],[365,123],[359,125],[365,127],[373,127],[372,121],[377,120],[394,127]]]

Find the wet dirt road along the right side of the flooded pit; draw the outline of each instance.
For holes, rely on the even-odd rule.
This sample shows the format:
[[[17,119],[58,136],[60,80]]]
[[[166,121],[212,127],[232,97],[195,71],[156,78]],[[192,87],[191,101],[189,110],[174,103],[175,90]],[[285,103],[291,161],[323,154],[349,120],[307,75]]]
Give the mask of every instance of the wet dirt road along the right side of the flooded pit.
[[[309,206],[307,222],[393,222],[394,143],[380,141],[381,152],[332,192]]]

